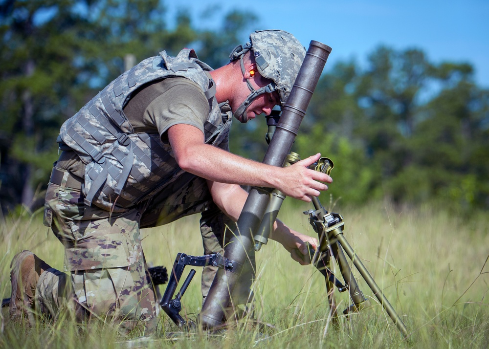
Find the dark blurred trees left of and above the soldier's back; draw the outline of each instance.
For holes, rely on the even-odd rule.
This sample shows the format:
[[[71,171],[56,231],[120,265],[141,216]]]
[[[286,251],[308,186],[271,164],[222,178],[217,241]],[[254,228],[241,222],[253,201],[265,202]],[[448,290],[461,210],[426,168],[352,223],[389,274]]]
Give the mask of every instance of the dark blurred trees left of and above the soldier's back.
[[[222,28],[197,31],[181,10],[168,29],[165,14],[160,0],[0,2],[2,209],[42,204],[42,196],[33,202],[34,190],[47,184],[61,124],[128,64],[189,44],[202,48],[201,59],[217,59],[254,21],[232,11]]]

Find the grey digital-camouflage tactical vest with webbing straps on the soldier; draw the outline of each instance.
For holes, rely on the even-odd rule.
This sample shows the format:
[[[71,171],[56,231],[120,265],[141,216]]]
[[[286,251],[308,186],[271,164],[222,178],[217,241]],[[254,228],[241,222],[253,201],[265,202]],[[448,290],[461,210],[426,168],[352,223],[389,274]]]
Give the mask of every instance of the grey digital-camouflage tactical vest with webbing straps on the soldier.
[[[162,51],[121,74],[63,124],[58,141],[86,164],[82,187],[86,205],[125,211],[184,172],[172,156],[170,144],[163,143],[158,133],[134,133],[124,115],[132,93],[144,84],[169,77],[195,82],[209,101],[205,142],[219,145],[228,136],[232,117],[229,113],[223,118],[214,98],[214,81],[206,73],[210,70],[191,49],[176,57]]]

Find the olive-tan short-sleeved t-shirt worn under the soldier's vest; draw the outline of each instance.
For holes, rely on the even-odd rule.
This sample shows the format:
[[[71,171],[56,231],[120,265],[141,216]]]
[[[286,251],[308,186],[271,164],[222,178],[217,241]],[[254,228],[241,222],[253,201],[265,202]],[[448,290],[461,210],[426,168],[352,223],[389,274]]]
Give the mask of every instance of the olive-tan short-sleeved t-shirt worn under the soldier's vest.
[[[175,77],[134,91],[123,110],[134,133],[159,133],[161,140],[167,141],[166,131],[177,124],[195,126],[203,133],[210,106],[196,83]],[[57,166],[79,177],[85,175],[85,164],[73,151],[61,153]]]

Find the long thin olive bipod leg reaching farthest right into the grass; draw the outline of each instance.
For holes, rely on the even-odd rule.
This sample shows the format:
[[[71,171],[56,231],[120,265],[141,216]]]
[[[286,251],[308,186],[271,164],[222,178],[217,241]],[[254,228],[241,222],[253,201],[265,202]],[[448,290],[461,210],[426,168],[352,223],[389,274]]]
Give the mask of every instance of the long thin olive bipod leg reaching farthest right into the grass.
[[[348,243],[346,240],[345,236],[343,235],[343,232],[341,229],[333,229],[332,234],[334,238],[338,241],[338,243],[341,245],[343,250],[346,252],[348,257],[352,260],[354,263],[356,269],[362,276],[363,280],[369,285],[370,289],[374,293],[375,297],[378,299],[384,310],[389,314],[389,317],[392,319],[394,324],[398,327],[400,332],[404,335],[405,338],[409,336],[409,331],[407,330],[406,325],[402,322],[392,305],[389,303],[387,298],[385,298],[384,294],[378,287],[377,283],[375,282],[374,278],[370,275],[368,272],[367,268],[363,265],[363,263],[360,261],[360,259],[356,256],[352,246]]]

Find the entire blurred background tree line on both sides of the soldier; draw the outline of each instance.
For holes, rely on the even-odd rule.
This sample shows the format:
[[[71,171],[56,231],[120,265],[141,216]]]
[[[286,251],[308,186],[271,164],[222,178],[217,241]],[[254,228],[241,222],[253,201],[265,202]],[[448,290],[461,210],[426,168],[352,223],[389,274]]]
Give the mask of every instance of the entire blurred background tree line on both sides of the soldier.
[[[218,29],[198,30],[183,12],[167,28],[164,14],[159,0],[0,2],[3,210],[39,207],[61,124],[125,61],[190,46],[218,67],[258,20],[230,12]],[[469,63],[433,64],[421,49],[377,47],[365,66],[347,61],[328,71],[293,149],[334,160],[327,195],[349,204],[388,198],[458,212],[489,208],[489,92],[474,83]],[[234,153],[262,160],[260,119],[233,125]]]

